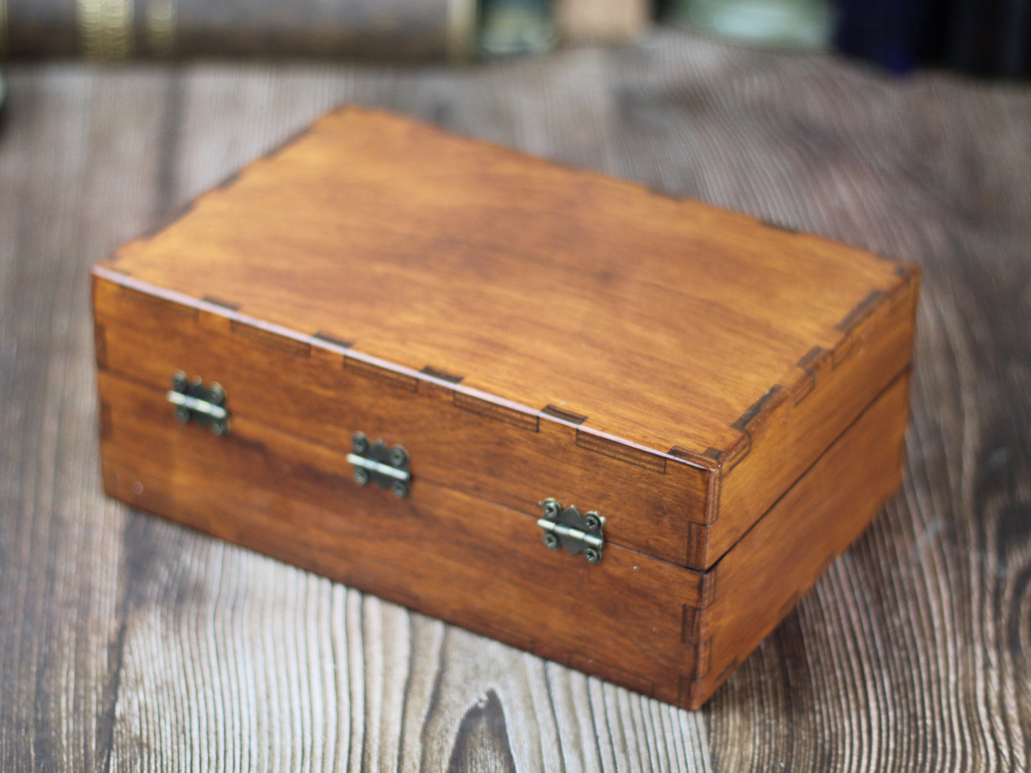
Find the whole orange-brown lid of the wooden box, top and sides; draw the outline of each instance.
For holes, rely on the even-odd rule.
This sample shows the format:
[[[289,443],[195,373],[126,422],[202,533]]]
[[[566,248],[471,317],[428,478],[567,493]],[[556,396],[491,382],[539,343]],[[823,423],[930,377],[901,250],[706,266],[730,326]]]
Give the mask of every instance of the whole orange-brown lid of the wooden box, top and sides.
[[[137,296],[210,331],[225,321],[241,346],[278,340],[262,349],[266,384],[331,405],[390,393],[396,421],[365,431],[403,443],[417,479],[421,465],[438,482],[453,471],[450,484],[524,509],[575,500],[607,539],[696,569],[904,370],[918,281],[863,250],[355,108],[95,276],[98,325],[126,340],[185,318],[141,322]],[[120,367],[172,338],[127,343]],[[194,357],[196,341],[180,348]],[[243,357],[212,356],[229,370]],[[323,428],[331,444],[363,430],[335,409],[272,410],[242,371],[200,375],[270,425]],[[355,375],[372,376],[367,394]],[[473,424],[448,437],[458,425],[434,427],[429,403],[406,407],[420,396]]]

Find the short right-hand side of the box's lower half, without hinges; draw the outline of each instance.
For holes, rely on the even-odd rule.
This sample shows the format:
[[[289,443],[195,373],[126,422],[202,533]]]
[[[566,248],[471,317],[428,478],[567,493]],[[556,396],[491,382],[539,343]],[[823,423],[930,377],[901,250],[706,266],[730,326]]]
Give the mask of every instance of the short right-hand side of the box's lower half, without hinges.
[[[712,599],[690,616],[709,657],[683,705],[708,700],[897,491],[908,394],[906,371],[708,572]]]

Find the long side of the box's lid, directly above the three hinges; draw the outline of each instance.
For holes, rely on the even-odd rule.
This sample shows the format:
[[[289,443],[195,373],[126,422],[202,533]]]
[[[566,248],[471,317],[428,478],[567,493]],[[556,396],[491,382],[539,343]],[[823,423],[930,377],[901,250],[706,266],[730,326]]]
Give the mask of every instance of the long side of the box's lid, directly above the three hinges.
[[[609,542],[678,565],[685,522],[705,517],[709,470],[587,430],[556,406],[497,401],[432,368],[350,351],[332,332],[261,326],[218,299],[177,303],[97,276],[94,301],[104,367],[156,390],[178,370],[217,381],[234,417],[339,450],[356,432],[383,438],[407,449],[418,480],[527,515],[547,497],[597,510]]]

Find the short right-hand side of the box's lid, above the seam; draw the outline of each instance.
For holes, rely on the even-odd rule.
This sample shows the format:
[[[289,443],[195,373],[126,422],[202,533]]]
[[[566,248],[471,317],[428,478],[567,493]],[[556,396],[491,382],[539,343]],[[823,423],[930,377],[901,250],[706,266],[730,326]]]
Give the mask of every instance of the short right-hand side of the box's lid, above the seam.
[[[723,459],[716,520],[692,525],[688,566],[719,561],[909,367],[920,277],[903,270],[894,293],[871,293],[841,321],[837,346],[813,347],[735,423],[741,440]]]

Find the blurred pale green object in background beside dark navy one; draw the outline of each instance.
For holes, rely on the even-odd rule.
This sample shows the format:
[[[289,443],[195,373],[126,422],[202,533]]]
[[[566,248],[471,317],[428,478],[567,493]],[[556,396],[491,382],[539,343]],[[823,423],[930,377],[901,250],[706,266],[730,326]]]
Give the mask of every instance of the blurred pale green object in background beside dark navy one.
[[[752,45],[826,48],[834,33],[828,0],[678,0],[694,27]]]

